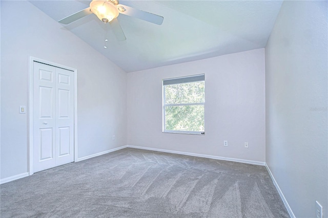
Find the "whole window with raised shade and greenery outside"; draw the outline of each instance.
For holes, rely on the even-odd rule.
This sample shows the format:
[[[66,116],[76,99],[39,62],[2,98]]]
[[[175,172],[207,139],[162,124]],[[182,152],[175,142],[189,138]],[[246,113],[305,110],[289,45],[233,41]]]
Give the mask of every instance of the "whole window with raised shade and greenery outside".
[[[204,74],[163,79],[163,132],[205,134]]]

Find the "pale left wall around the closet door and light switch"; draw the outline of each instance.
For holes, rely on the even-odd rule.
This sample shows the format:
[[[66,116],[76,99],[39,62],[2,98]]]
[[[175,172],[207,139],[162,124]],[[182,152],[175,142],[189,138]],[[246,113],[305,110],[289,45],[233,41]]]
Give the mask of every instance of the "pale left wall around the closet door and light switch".
[[[127,74],[27,1],[1,1],[1,179],[28,171],[29,56],[77,69],[78,158],[126,145]],[[112,140],[116,135],[116,140]]]

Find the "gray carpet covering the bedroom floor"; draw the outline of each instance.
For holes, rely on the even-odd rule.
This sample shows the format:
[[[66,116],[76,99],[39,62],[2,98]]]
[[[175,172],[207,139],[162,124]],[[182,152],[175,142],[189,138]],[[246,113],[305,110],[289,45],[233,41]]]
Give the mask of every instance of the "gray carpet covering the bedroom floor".
[[[1,217],[289,217],[263,166],[125,148],[1,185]]]

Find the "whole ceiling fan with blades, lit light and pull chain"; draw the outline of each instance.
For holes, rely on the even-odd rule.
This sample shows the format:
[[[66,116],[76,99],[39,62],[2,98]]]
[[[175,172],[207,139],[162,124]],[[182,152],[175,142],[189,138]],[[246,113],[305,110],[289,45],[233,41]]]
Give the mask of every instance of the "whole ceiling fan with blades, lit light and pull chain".
[[[119,41],[124,41],[127,39],[124,35],[124,32],[120,24],[118,23],[118,20],[116,19],[119,13],[136,17],[142,20],[146,20],[150,23],[157,24],[157,25],[161,25],[164,19],[162,16],[156,14],[152,14],[146,11],[141,11],[126,5],[120,5],[118,4],[118,0],[92,0],[89,8],[78,11],[68,17],[59,20],[58,22],[61,24],[70,24],[73,21],[78,20],[92,13],[94,13],[101,21],[105,23],[105,28],[106,28],[106,23],[109,23],[111,25],[113,32]],[[106,41],[107,39],[105,34],[104,48],[107,48]]]

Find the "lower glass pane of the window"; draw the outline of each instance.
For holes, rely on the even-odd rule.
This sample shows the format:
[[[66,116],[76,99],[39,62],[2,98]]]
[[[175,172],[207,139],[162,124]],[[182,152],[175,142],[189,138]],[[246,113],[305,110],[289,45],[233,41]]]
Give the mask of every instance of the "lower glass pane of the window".
[[[204,131],[204,105],[166,106],[165,129]]]

